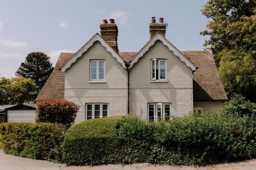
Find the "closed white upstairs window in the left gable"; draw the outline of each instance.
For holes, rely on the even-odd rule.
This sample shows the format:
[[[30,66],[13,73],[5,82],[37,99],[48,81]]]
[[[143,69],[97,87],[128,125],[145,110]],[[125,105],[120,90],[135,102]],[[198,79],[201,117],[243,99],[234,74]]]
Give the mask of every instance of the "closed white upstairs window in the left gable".
[[[104,80],[105,79],[105,61],[91,60],[91,76],[90,80]]]

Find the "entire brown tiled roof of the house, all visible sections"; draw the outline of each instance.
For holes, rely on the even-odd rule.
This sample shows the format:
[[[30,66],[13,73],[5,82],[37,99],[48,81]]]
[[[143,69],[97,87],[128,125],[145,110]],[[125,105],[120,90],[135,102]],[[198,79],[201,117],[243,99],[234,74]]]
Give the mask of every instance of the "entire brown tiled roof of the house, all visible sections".
[[[211,51],[183,51],[186,58],[195,64],[198,69],[193,74],[194,100],[227,100],[220,76],[217,72],[214,57]],[[42,99],[63,99],[65,86],[65,72],[59,69],[75,53],[61,53],[51,76],[38,94],[36,101]],[[136,52],[119,52],[125,62],[130,62]]]

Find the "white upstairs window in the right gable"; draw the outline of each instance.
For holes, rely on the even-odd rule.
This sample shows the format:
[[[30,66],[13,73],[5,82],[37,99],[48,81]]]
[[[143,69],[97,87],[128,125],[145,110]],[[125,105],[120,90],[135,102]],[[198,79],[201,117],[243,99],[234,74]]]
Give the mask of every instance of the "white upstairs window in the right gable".
[[[166,79],[166,60],[152,59],[151,60],[151,80]]]

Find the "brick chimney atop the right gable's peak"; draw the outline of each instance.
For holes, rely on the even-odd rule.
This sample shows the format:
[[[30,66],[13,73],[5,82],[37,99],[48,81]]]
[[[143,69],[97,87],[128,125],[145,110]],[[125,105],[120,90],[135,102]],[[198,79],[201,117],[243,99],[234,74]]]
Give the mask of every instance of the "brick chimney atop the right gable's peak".
[[[167,23],[163,22],[163,18],[159,18],[159,23],[156,23],[156,17],[152,17],[150,23],[150,39],[158,33],[165,37],[166,27]]]

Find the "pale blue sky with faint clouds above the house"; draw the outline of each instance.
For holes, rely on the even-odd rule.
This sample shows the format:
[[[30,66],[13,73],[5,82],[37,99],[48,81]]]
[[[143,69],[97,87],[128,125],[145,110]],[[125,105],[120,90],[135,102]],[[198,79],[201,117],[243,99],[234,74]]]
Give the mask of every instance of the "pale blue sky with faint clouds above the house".
[[[137,52],[150,39],[151,17],[168,23],[166,38],[179,50],[204,50],[208,19],[201,14],[206,0],[172,1],[0,1],[0,77],[11,78],[34,51],[51,57],[76,52],[95,33],[103,19],[114,18],[119,51]]]

